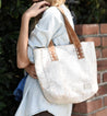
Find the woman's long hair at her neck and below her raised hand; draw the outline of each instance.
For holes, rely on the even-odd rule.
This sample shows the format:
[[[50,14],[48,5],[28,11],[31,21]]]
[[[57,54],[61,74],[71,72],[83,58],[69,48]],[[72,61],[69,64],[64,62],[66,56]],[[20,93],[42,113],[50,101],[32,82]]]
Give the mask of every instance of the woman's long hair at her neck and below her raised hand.
[[[46,1],[50,3],[50,7],[61,5],[66,2],[66,0],[46,0]],[[32,22],[29,25],[29,34],[34,30],[35,25],[38,23],[38,21],[41,16],[43,16],[43,13],[40,13],[36,18],[32,19]]]

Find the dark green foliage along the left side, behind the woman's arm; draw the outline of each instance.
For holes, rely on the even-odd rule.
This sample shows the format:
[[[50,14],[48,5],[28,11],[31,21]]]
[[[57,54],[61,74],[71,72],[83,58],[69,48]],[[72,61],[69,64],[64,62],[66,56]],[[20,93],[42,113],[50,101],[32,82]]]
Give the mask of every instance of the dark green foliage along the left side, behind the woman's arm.
[[[0,116],[14,116],[19,106],[13,91],[23,70],[16,68],[16,40],[21,15],[28,5],[24,0],[0,0]]]

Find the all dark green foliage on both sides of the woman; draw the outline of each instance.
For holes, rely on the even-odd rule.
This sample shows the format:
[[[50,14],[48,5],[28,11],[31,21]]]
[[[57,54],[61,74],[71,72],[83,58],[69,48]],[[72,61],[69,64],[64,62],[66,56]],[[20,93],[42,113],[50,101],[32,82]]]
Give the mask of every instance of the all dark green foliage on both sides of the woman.
[[[106,0],[80,0],[73,5],[78,23],[104,23],[107,21]],[[16,68],[16,40],[21,16],[31,5],[28,0],[0,0],[0,116],[13,116],[19,103],[13,91],[23,78]]]

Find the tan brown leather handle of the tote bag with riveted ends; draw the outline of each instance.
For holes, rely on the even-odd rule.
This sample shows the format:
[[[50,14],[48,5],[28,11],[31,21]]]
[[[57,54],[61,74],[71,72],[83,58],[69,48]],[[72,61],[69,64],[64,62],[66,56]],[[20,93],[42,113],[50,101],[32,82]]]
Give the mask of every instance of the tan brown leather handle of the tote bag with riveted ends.
[[[61,12],[61,14],[63,15],[63,20],[64,20],[66,28],[67,28],[67,32],[68,32],[68,35],[69,35],[69,39],[70,39],[71,44],[72,43],[74,44],[78,58],[79,59],[84,58],[83,49],[82,49],[82,46],[81,46],[81,43],[80,43],[78,35],[75,34],[72,26],[70,25],[68,18],[64,15],[63,10],[60,7],[57,7],[57,8]],[[50,53],[50,56],[51,56],[51,60],[52,61],[58,60],[58,56],[56,54],[56,48],[55,48],[52,39],[50,40],[50,43],[48,45],[48,49],[49,49],[49,53]]]

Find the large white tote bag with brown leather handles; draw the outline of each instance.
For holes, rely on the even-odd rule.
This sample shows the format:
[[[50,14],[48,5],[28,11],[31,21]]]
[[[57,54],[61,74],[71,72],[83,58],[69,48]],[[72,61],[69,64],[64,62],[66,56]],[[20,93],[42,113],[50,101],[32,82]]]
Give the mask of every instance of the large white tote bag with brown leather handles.
[[[86,101],[97,90],[97,63],[93,42],[80,43],[61,8],[70,42],[73,44],[35,48],[35,70],[45,98],[54,104]]]

